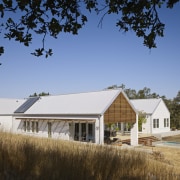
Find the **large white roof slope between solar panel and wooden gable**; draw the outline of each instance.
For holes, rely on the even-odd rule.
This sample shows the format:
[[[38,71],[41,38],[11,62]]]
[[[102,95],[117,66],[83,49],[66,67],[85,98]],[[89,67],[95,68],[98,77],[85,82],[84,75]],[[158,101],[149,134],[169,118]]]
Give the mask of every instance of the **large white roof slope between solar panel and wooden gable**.
[[[24,114],[102,114],[121,89],[97,92],[42,96]]]

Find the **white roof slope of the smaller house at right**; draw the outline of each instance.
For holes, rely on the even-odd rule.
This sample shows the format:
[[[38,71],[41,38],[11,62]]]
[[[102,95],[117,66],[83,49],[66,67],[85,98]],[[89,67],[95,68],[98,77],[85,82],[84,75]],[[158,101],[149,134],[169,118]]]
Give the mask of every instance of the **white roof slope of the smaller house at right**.
[[[133,99],[130,100],[137,111],[143,111],[147,114],[153,114],[158,104],[161,101],[159,99]]]

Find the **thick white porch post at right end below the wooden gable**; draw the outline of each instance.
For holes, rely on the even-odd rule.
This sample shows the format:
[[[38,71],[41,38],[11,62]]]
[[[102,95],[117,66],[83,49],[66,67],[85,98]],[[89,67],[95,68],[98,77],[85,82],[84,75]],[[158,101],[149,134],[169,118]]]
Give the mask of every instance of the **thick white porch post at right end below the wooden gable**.
[[[131,145],[138,146],[138,114],[136,114],[136,123],[131,128]]]

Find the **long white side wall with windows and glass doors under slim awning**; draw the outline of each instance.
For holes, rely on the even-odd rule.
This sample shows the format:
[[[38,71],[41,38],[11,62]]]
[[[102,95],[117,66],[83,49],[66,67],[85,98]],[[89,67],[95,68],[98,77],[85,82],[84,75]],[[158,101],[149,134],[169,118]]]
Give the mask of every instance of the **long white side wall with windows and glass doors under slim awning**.
[[[82,142],[99,142],[98,118],[16,117],[18,133]],[[99,128],[97,128],[99,129]]]

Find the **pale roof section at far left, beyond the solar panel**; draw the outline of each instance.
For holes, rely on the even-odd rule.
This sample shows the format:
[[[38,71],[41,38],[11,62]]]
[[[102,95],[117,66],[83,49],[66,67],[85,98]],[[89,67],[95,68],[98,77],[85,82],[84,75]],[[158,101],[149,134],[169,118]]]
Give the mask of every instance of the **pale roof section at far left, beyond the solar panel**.
[[[11,115],[14,111],[21,106],[25,99],[6,99],[0,98],[0,114]]]

